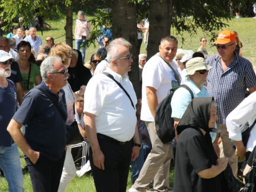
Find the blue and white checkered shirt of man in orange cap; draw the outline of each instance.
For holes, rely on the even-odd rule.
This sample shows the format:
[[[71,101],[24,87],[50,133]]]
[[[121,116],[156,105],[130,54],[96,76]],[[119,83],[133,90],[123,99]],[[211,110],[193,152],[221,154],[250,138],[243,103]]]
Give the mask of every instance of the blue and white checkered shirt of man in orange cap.
[[[225,72],[218,54],[207,57],[206,62],[212,66],[207,91],[216,101],[217,122],[226,124],[226,117],[243,101],[246,89],[256,86],[256,76],[251,62],[237,54]]]

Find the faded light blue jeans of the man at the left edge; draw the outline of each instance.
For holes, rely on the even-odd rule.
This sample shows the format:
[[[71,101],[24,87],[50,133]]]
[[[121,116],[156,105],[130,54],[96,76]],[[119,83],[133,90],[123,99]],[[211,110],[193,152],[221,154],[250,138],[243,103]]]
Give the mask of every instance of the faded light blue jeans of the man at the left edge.
[[[24,191],[22,166],[15,143],[10,147],[0,146],[0,167],[8,182],[9,191]]]

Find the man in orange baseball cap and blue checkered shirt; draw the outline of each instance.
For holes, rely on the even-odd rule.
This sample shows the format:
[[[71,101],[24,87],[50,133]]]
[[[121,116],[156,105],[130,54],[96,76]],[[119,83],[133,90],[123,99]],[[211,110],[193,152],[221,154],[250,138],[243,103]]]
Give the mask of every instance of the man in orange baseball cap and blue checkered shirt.
[[[217,126],[222,130],[217,137],[221,137],[224,156],[228,158],[233,175],[237,177],[237,156],[245,156],[246,147],[242,141],[234,141],[237,147],[234,151],[226,127],[226,117],[243,101],[247,88],[250,94],[256,90],[256,76],[251,62],[234,51],[236,35],[233,32],[229,30],[220,32],[217,40],[212,44],[215,44],[219,54],[206,59],[207,64],[212,67],[208,72],[207,91],[216,101],[219,117]]]

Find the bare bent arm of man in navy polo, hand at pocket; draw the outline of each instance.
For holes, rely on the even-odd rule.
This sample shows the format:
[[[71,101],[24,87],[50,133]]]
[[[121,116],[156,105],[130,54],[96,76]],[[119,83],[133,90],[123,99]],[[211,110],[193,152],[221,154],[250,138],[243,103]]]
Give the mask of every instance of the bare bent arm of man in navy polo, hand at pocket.
[[[39,158],[39,152],[32,150],[22,132],[20,131],[20,127],[22,127],[22,123],[15,121],[12,119],[7,127],[7,131],[12,136],[13,140],[17,144],[17,146],[22,150],[26,156],[32,161],[32,163],[36,163]]]

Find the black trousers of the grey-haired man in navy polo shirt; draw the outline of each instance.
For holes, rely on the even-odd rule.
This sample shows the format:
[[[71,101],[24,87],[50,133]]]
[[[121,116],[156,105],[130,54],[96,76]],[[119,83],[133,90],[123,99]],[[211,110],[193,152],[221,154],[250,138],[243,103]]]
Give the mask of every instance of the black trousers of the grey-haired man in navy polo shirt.
[[[57,160],[52,161],[40,154],[34,164],[26,159],[34,192],[57,192],[62,174],[66,152]]]

